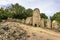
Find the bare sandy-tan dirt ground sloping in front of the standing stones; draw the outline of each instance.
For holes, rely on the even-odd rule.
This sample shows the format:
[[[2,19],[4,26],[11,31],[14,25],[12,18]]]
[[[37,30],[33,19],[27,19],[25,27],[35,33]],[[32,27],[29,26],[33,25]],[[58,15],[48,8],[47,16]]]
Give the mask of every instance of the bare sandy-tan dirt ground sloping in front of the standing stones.
[[[17,22],[5,22],[1,25],[10,25],[21,27],[27,31],[27,40],[60,40],[60,33],[42,29],[40,27],[28,26]]]

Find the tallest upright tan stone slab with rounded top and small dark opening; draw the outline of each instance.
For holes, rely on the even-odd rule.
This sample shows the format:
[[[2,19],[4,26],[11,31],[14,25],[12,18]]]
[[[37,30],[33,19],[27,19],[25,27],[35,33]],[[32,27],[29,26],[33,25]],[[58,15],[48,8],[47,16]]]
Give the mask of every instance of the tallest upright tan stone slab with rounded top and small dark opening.
[[[40,10],[35,8],[33,11],[33,26],[40,26]]]

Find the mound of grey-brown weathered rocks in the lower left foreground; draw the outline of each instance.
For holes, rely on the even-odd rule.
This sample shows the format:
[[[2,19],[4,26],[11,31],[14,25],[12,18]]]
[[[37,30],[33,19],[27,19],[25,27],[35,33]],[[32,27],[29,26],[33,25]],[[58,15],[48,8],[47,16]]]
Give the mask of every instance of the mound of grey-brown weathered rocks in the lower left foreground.
[[[20,27],[0,25],[0,40],[26,40],[27,32]]]

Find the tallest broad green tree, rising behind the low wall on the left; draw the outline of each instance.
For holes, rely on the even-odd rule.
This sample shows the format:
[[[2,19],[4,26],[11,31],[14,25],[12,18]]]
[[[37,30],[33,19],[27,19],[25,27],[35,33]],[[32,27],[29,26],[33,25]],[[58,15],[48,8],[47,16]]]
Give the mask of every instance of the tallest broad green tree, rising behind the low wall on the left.
[[[14,4],[14,5],[12,4],[7,9],[9,11],[9,17],[11,17],[11,18],[22,17],[21,14],[25,11],[25,8],[21,5],[19,5],[18,3]]]

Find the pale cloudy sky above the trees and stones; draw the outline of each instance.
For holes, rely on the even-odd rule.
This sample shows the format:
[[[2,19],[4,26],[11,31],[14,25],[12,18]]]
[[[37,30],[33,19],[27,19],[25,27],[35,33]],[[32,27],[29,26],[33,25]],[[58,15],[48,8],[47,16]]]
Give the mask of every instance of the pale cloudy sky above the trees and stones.
[[[19,3],[27,8],[39,8],[41,13],[45,13],[48,17],[60,11],[60,0],[0,0],[2,5]]]

